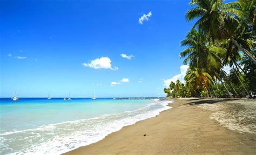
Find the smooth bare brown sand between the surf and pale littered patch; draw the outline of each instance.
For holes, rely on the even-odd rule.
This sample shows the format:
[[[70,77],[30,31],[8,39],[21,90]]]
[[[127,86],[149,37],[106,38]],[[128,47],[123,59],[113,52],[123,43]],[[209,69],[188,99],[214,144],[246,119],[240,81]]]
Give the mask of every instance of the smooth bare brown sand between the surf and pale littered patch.
[[[196,104],[215,100],[214,104],[217,105],[232,99],[171,100],[173,103],[168,106],[173,108],[161,111],[155,117],[124,126],[96,143],[80,146],[63,154],[256,153],[255,133],[239,133],[227,129],[210,119],[211,110],[204,110]],[[240,100],[235,99],[237,101]],[[201,147],[203,145],[206,146]]]

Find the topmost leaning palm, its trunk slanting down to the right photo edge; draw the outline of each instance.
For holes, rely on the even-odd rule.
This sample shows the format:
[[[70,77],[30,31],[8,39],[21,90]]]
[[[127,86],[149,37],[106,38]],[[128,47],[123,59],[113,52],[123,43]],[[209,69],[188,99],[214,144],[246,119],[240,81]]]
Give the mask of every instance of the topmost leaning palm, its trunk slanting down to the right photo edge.
[[[223,4],[223,0],[192,0],[190,4],[196,6],[187,11],[187,21],[199,18],[193,29],[198,28],[203,35],[208,35],[208,39],[212,39],[213,45],[215,45],[216,40],[230,39],[239,50],[244,52],[256,64],[255,57],[233,38],[233,32],[240,22],[232,16],[232,10],[227,8],[227,4]]]

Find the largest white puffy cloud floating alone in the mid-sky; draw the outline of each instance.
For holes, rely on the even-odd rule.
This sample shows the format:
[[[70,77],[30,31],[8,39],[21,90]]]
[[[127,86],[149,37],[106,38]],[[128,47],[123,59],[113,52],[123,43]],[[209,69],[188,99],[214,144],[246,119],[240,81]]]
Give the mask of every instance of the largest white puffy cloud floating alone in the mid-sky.
[[[118,67],[112,68],[111,60],[108,57],[101,57],[95,60],[91,60],[90,63],[83,63],[83,66],[93,69],[111,69],[118,70]]]

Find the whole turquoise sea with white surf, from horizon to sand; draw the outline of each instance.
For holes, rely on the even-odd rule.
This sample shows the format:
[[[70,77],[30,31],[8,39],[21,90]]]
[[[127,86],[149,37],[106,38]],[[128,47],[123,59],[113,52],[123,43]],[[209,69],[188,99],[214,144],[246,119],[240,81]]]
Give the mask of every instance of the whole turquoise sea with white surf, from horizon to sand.
[[[170,101],[0,99],[0,154],[59,154],[156,116]]]

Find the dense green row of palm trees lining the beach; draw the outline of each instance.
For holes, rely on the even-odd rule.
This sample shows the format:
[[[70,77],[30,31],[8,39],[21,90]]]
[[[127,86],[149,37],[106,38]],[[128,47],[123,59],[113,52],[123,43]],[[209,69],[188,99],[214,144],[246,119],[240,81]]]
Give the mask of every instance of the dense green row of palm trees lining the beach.
[[[196,24],[181,45],[189,65],[185,84],[164,89],[167,97],[245,97],[256,92],[256,1],[194,0],[186,12]],[[224,71],[230,66],[230,73]]]

